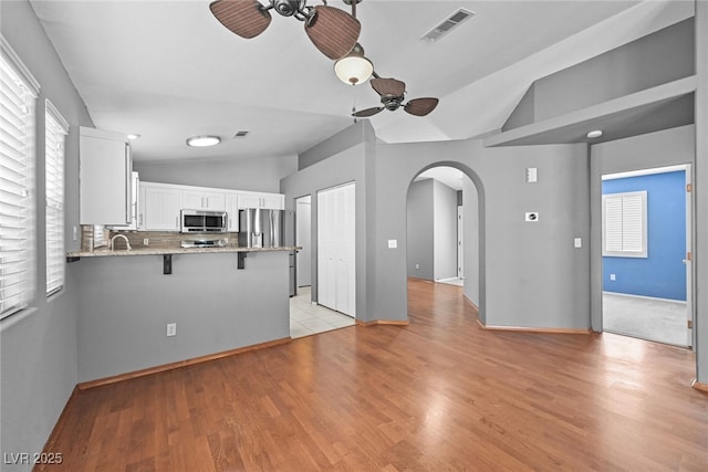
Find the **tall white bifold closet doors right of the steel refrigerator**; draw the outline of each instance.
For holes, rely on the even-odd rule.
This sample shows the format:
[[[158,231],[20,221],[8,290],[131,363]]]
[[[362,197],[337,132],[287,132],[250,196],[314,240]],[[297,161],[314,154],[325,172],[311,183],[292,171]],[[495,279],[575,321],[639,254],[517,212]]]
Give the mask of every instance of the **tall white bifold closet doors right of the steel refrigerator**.
[[[317,303],[356,316],[355,185],[317,192]]]

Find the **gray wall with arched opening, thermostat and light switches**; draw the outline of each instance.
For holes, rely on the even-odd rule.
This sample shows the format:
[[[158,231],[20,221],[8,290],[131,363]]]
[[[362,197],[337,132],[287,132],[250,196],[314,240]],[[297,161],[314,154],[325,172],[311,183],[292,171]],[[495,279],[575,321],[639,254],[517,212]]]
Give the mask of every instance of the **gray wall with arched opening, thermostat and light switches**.
[[[417,174],[436,165],[460,168],[478,190],[482,285],[478,302],[487,324],[587,328],[589,252],[586,247],[573,249],[573,238],[586,241],[590,232],[585,145],[496,149],[483,149],[478,140],[378,145],[375,314],[407,319],[405,244],[399,244],[403,251],[388,250],[385,241],[404,239],[408,186]],[[523,183],[527,167],[539,168],[538,183]],[[524,222],[525,211],[540,211],[541,220]]]

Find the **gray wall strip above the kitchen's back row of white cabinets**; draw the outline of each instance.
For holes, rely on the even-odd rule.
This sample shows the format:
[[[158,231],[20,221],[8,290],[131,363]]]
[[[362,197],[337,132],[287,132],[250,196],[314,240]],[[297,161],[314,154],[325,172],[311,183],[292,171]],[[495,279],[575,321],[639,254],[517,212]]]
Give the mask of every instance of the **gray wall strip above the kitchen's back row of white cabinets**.
[[[279,192],[280,179],[298,169],[298,157],[134,164],[142,181]]]

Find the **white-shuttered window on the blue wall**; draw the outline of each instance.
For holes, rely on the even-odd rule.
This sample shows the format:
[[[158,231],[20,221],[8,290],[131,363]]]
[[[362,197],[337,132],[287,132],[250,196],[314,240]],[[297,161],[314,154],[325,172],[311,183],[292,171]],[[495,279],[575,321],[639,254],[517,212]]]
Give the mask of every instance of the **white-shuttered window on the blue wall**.
[[[602,196],[602,255],[646,258],[646,191]]]

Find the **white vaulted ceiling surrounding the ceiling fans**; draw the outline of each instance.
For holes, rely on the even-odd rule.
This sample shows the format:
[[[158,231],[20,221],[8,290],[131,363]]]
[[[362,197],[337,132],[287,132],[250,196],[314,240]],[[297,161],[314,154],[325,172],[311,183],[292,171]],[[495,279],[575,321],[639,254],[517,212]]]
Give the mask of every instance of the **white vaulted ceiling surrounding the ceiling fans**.
[[[266,0],[261,0],[266,1]],[[293,156],[378,105],[340,82],[303,23],[273,13],[252,40],[223,28],[209,0],[31,1],[96,127],[137,133],[136,161]],[[310,0],[309,4],[319,4]],[[341,0],[332,7],[348,11]],[[690,1],[364,0],[360,42],[407,98],[437,96],[427,117],[371,118],[386,143],[464,139],[501,127],[531,82],[690,13]],[[437,42],[419,36],[458,8],[477,14]],[[233,139],[239,130],[250,132]],[[223,143],[192,149],[185,139]]]

